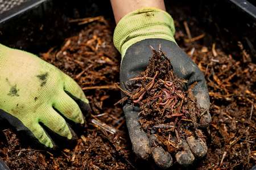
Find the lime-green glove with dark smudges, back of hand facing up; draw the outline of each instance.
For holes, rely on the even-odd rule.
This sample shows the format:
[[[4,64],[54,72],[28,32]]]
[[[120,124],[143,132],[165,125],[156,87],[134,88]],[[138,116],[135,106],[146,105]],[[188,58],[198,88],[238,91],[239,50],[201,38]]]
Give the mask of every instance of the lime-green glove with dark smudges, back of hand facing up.
[[[72,139],[75,134],[64,117],[84,124],[82,112],[90,112],[84,92],[71,77],[31,53],[1,44],[0,91],[0,120],[48,148],[55,144],[43,126]]]

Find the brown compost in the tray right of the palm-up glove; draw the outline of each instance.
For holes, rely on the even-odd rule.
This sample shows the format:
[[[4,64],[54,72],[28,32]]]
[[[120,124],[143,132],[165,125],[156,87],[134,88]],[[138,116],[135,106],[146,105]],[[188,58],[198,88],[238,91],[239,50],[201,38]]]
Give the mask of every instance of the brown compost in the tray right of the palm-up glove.
[[[181,24],[184,25],[177,23],[182,27]],[[216,48],[218,44],[204,46],[193,40],[189,42],[184,33],[177,31],[176,40],[205,74],[211,102],[208,152],[195,167],[250,169],[256,161],[256,65],[241,42],[237,42],[240,50],[230,52],[236,54],[233,57]],[[199,31],[195,33],[197,38],[204,35]]]

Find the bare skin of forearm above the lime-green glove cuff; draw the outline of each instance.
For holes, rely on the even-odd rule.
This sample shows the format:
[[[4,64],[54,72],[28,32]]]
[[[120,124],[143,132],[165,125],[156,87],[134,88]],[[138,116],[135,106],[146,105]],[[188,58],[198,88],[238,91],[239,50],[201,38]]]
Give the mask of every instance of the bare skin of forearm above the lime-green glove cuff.
[[[118,23],[123,16],[131,11],[138,10],[143,7],[154,7],[166,10],[163,0],[111,0],[115,22]]]

